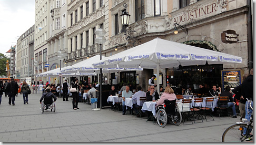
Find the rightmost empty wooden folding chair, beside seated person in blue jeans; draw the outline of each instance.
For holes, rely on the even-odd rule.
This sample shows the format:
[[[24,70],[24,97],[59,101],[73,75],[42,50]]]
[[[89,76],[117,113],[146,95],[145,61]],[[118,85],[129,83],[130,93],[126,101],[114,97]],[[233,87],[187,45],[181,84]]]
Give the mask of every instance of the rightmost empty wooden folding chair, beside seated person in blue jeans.
[[[218,114],[219,114],[219,117],[221,119],[221,114],[223,115],[224,112],[227,112],[228,114],[228,119],[229,119],[229,112],[228,112],[228,102],[229,102],[229,97],[228,96],[220,96],[219,99],[218,99]]]

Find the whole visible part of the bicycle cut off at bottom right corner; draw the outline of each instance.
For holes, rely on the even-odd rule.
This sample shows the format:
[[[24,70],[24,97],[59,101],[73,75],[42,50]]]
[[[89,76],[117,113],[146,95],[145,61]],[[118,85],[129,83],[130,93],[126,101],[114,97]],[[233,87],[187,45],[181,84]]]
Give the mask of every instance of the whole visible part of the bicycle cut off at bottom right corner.
[[[253,110],[253,107],[251,106],[252,101],[248,100],[248,103],[249,102],[250,102],[250,107]],[[247,107],[247,110],[248,110],[248,107]],[[222,134],[222,142],[243,142],[244,140],[245,141],[251,140],[252,135],[250,134],[250,132],[253,129],[252,123],[253,123],[253,115],[251,113],[250,121],[243,118],[242,122],[237,122],[235,125],[232,125],[229,128],[227,128]],[[245,135],[243,135],[244,128],[247,128]]]

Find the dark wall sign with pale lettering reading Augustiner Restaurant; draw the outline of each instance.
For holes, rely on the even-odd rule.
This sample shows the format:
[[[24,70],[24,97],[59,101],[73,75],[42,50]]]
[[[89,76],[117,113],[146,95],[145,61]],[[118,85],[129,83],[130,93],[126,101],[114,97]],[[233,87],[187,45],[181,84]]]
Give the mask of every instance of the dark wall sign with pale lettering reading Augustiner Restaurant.
[[[221,33],[221,41],[223,43],[237,43],[238,34],[234,30],[226,30]]]

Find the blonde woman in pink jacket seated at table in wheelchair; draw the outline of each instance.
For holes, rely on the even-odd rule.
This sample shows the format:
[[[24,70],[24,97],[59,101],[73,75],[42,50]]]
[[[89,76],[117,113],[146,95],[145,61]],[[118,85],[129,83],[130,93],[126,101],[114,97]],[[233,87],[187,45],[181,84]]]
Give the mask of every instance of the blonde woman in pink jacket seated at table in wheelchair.
[[[169,86],[167,86],[165,88],[165,91],[163,92],[161,98],[158,101],[156,101],[156,106],[164,105],[164,100],[165,99],[168,99],[170,101],[176,99],[176,95],[174,94],[174,90]]]

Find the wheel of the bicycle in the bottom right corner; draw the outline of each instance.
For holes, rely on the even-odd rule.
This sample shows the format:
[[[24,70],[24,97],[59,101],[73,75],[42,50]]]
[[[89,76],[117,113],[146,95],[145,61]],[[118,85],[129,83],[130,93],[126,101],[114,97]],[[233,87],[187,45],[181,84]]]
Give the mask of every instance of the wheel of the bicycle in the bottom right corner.
[[[245,139],[241,134],[246,124],[236,124],[227,128],[222,135],[222,142],[243,142]]]

